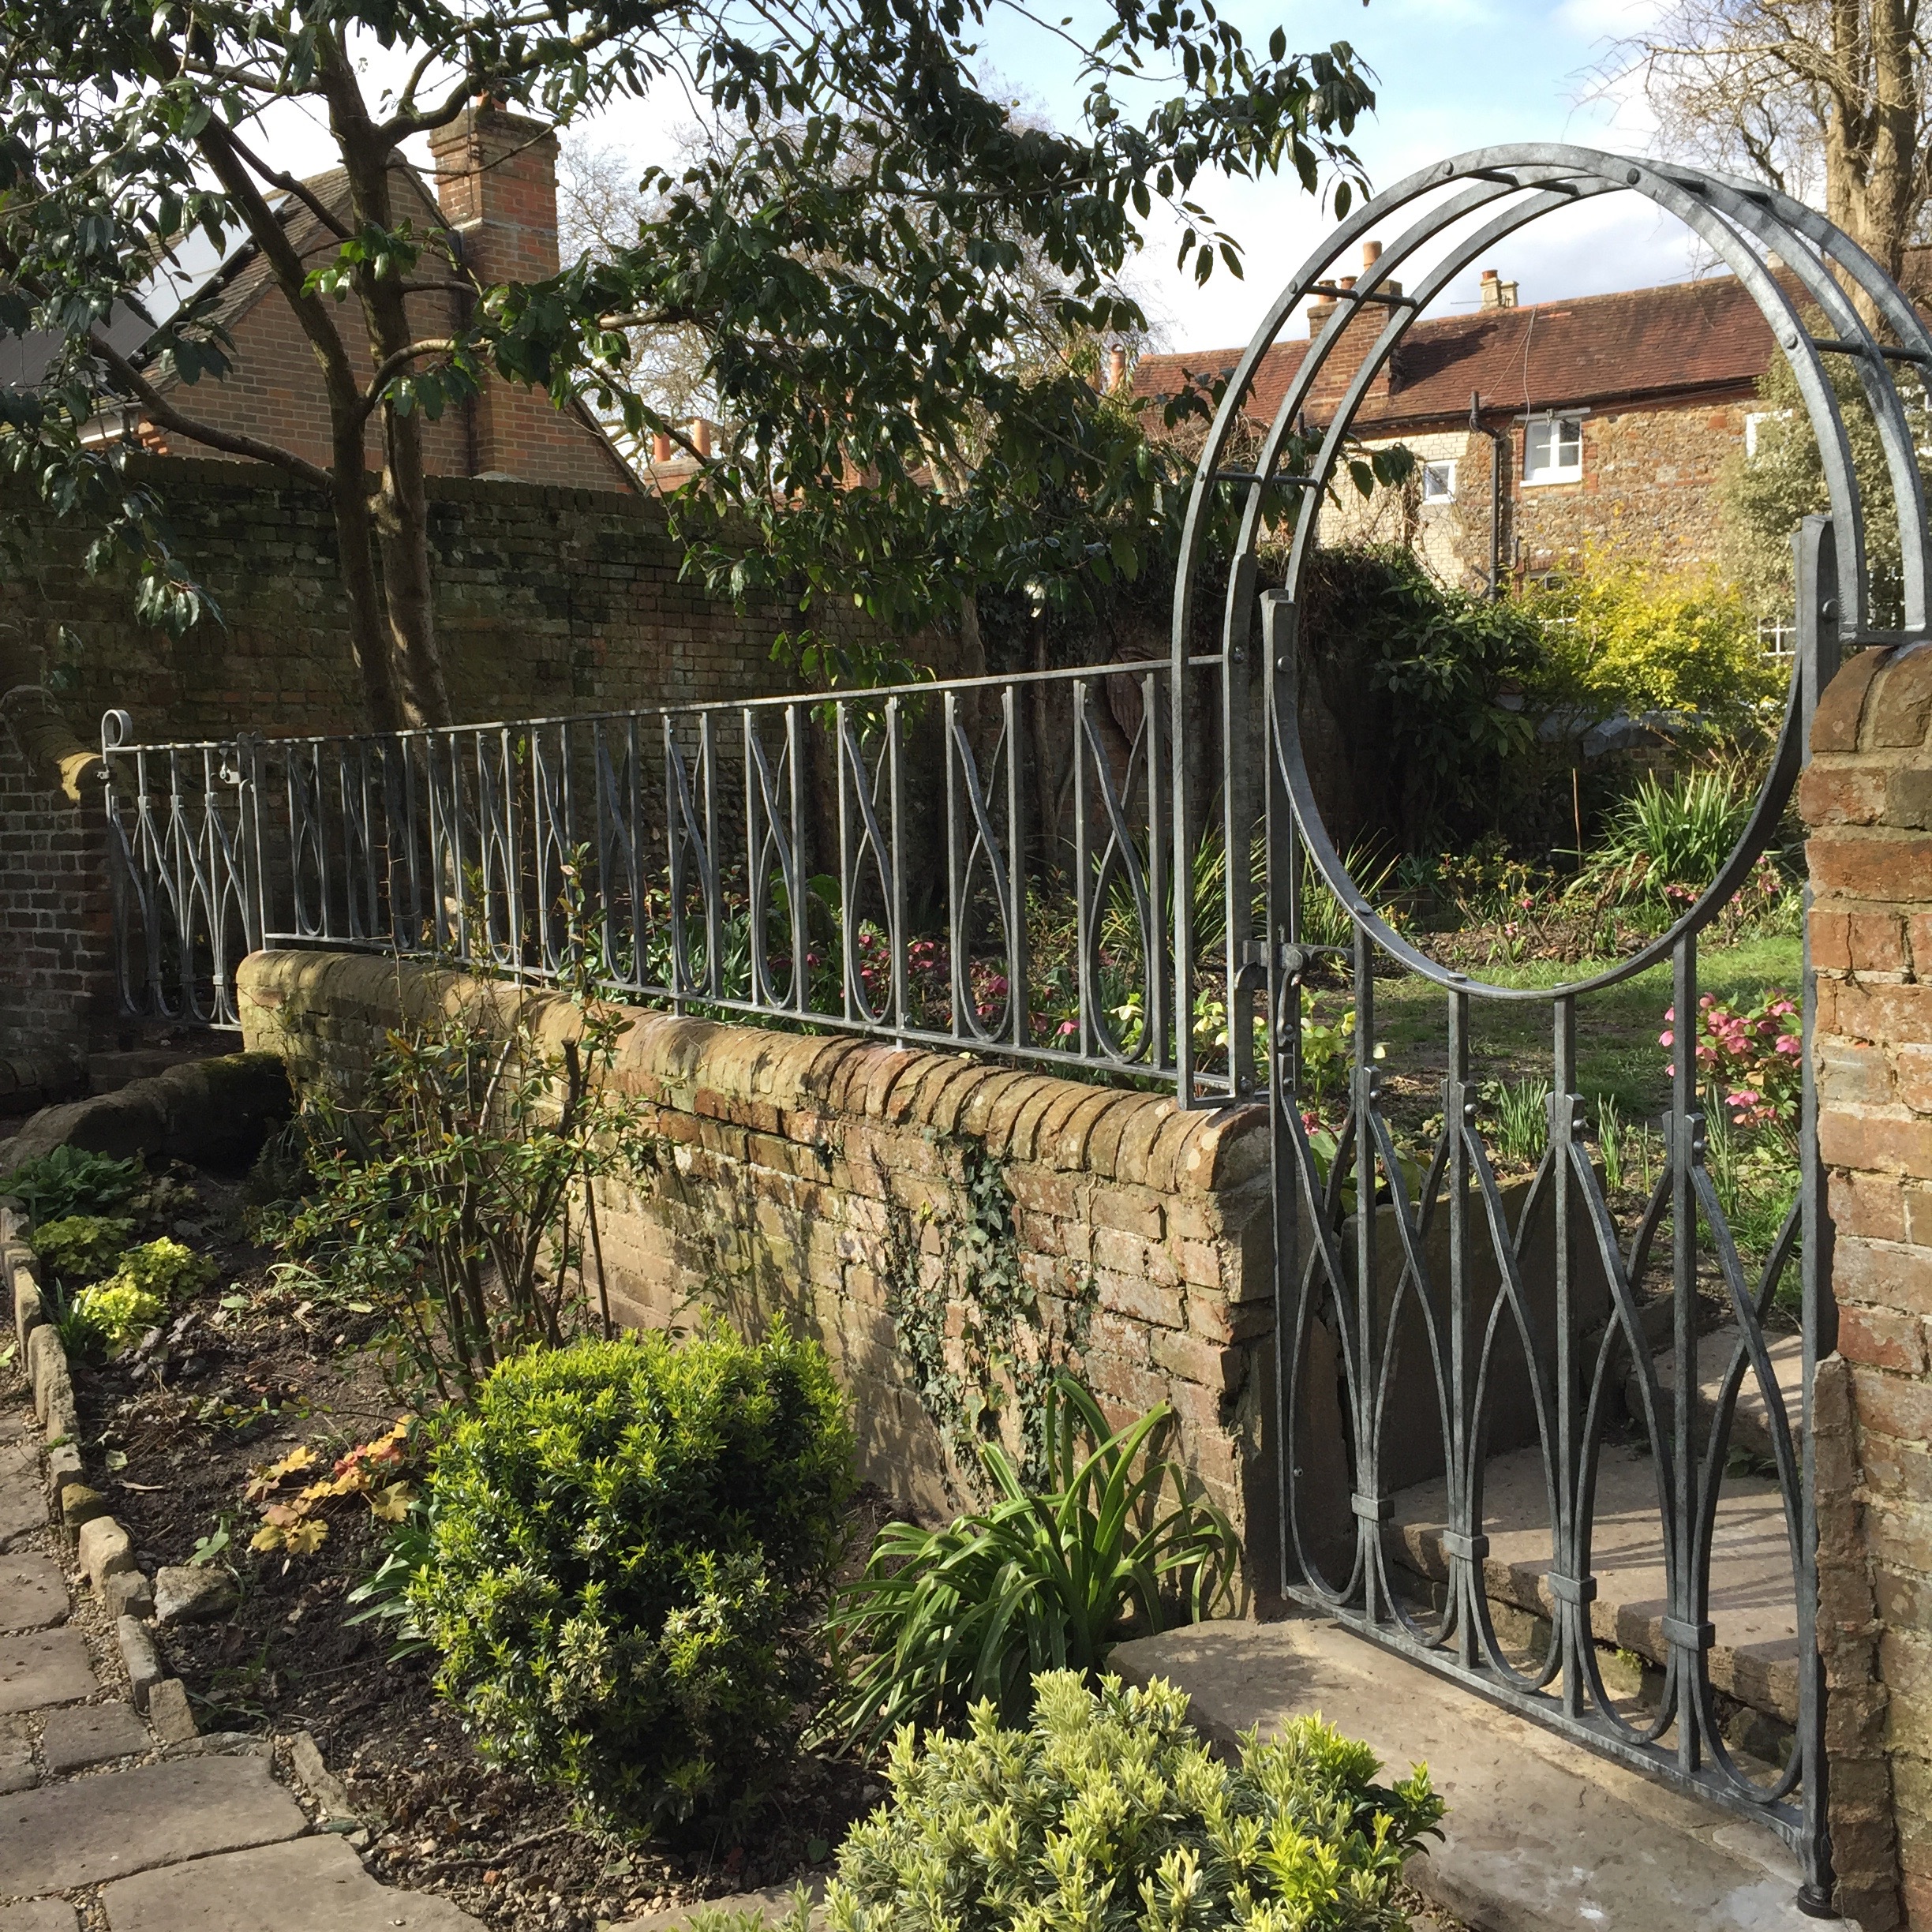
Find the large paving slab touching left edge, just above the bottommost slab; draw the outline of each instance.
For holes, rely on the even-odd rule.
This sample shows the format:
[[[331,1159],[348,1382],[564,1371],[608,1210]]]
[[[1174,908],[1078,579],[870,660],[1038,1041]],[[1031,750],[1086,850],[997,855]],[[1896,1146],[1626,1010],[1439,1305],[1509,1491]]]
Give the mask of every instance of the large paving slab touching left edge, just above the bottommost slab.
[[[263,1758],[184,1758],[43,1785],[0,1799],[0,1897],[99,1886],[303,1830],[301,1806]]]

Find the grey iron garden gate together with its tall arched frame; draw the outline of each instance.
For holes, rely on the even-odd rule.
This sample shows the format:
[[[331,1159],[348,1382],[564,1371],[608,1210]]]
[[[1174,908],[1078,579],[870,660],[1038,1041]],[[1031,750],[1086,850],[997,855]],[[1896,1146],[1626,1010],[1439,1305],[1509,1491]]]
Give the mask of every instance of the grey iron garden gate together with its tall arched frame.
[[[1302,759],[1296,711],[1296,589],[1316,527],[1323,491],[1343,458],[1350,421],[1370,383],[1405,332],[1443,288],[1519,228],[1557,209],[1596,195],[1638,193],[1683,220],[1745,284],[1770,321],[1777,346],[1797,377],[1824,460],[1830,518],[1808,518],[1797,533],[1797,636],[1789,703],[1770,777],[1748,829],[1716,881],[1677,923],[1596,978],[1553,989],[1490,985],[1451,972],[1420,952],[1383,922],[1356,891],[1321,825]],[[1362,238],[1405,216],[1410,226],[1364,269],[1354,288],[1321,284],[1323,272],[1347,259]],[[1445,253],[1435,255],[1437,247]],[[1395,278],[1416,257],[1428,263],[1408,292]],[[1783,276],[1777,272],[1777,257]],[[1793,296],[1789,282],[1797,284]],[[1262,355],[1281,334],[1296,305],[1316,288],[1335,298],[1335,311],[1310,342],[1308,354],[1281,398],[1250,464],[1227,468],[1229,444],[1242,425],[1244,402]],[[1862,298],[1855,301],[1851,292]],[[1294,437],[1306,400],[1335,354],[1343,330],[1364,311],[1387,317],[1368,355],[1349,381],[1343,402],[1321,435],[1306,471],[1277,469],[1283,454],[1306,448]],[[1830,334],[1814,334],[1806,315],[1824,317]],[[1866,327],[1878,317],[1880,328]],[[1891,340],[1882,340],[1889,336]],[[1360,340],[1360,330],[1356,332]],[[1880,632],[1870,614],[1864,512],[1853,473],[1845,423],[1826,357],[1849,357],[1878,425],[1897,504],[1901,545],[1903,630]],[[1824,1681],[1814,1640],[1816,1520],[1812,1503],[1812,1439],[1808,1408],[1812,1368],[1830,1352],[1835,1312],[1830,1289],[1830,1223],[1816,1161],[1816,1099],[1810,1078],[1812,985],[1804,970],[1804,1099],[1801,1124],[1799,1196],[1762,1273],[1747,1275],[1706,1171],[1706,1124],[1700,1113],[1694,1059],[1677,1051],[1671,1103],[1665,1117],[1663,1173],[1642,1229],[1625,1252],[1602,1182],[1582,1138],[1582,1097],[1577,1092],[1577,1022],[1590,995],[1650,966],[1671,962],[1675,1012],[1689,1016],[1698,999],[1698,935],[1733,898],[1758,854],[1772,840],[1804,763],[1818,694],[1847,647],[1895,645],[1926,634],[1928,535],[1918,466],[1891,367],[1907,363],[1924,379],[1932,367],[1932,336],[1889,276],[1824,216],[1756,184],[1692,168],[1636,162],[1575,147],[1493,147],[1437,162],[1341,222],[1323,247],[1269,309],[1254,342],[1227,383],[1194,483],[1184,535],[1184,568],[1175,597],[1175,744],[1186,736],[1180,705],[1182,667],[1196,622],[1196,578],[1221,491],[1244,500],[1223,616],[1223,649],[1194,657],[1217,665],[1223,680],[1225,782],[1219,796],[1227,867],[1227,983],[1231,1026],[1231,1084],[1252,1082],[1256,1001],[1271,1024],[1265,1080],[1271,1107],[1275,1269],[1281,1410],[1279,1466],[1283,1507],[1283,1586],[1289,1598],[1337,1617],[1349,1629],[1385,1644],[1468,1689],[1519,1710],[1609,1758],[1696,1791],[1716,1804],[1762,1820],[1795,1849],[1803,1866],[1799,1903],[1832,1917],[1832,1857],[1826,1830]],[[1298,502],[1287,580],[1260,591],[1258,543],[1269,493],[1293,493]],[[1262,649],[1254,651],[1254,616],[1262,618]],[[1256,655],[1260,663],[1256,663]],[[1260,707],[1256,707],[1260,697]],[[1260,719],[1252,728],[1250,721]],[[1265,740],[1265,742],[1264,742]],[[1256,782],[1260,779],[1260,782]],[[1184,796],[1184,761],[1175,759],[1177,866],[1186,866],[1206,800]],[[1260,792],[1260,796],[1256,796]],[[1256,819],[1265,821],[1265,931],[1250,931],[1252,881],[1240,854],[1250,848]],[[1300,887],[1314,864],[1349,910],[1354,925],[1356,985],[1354,1070],[1341,1150],[1323,1180],[1296,1099],[1302,1012],[1302,974],[1310,954],[1300,943]],[[1177,895],[1177,956],[1192,958],[1186,895]],[[1443,1130],[1420,1186],[1406,1182],[1381,1111],[1374,1065],[1374,964],[1385,956],[1441,987],[1449,1045],[1443,1082]],[[1265,987],[1265,993],[1264,993]],[[1472,1001],[1532,1001],[1551,1016],[1549,1138],[1526,1227],[1542,1198],[1553,1215],[1548,1252],[1519,1252],[1495,1175],[1476,1124],[1476,1086],[1470,1080]],[[1179,1034],[1186,1041],[1184,1007]],[[1683,1024],[1683,1022],[1679,1022]],[[1186,1047],[1182,1047],[1186,1051]],[[1182,1068],[1182,1092],[1186,1068]],[[1352,1173],[1350,1173],[1352,1169]],[[1395,1211],[1345,1213],[1343,1188],[1356,1200],[1378,1194]],[[1636,1302],[1636,1281],[1660,1231],[1671,1235],[1671,1337],[1675,1389],[1698,1385],[1696,1265],[1700,1217],[1708,1246],[1729,1291],[1737,1347],[1727,1364],[1714,1420],[1700,1439],[1698,1405],[1671,1403],[1652,1360]],[[1447,1221],[1447,1279],[1432,1267],[1432,1227]],[[1393,1225],[1391,1225],[1393,1223]],[[1399,1287],[1387,1308],[1378,1293],[1378,1240],[1393,1233],[1399,1244]],[[1441,1236],[1437,1229],[1437,1254]],[[1787,1403],[1772,1372],[1764,1316],[1781,1273],[1803,1271],[1803,1399]],[[1542,1329],[1530,1320],[1526,1269],[1553,1269],[1542,1283],[1553,1320]],[[1584,1333],[1578,1283],[1584,1267],[1600,1269],[1609,1285],[1609,1318],[1600,1333]],[[1490,1283],[1488,1287],[1484,1283]],[[1316,1329],[1327,1321],[1323,1347],[1333,1352],[1333,1403],[1341,1416],[1349,1497],[1339,1544],[1349,1553],[1323,1565],[1310,1520],[1312,1499],[1296,1468],[1298,1432],[1306,1434],[1312,1399]],[[1424,1379],[1432,1383],[1441,1424],[1447,1519],[1439,1538],[1447,1584],[1441,1607],[1418,1611],[1391,1586],[1383,1524],[1391,1515],[1383,1445],[1391,1420],[1397,1335],[1414,1349],[1426,1337]],[[1534,1406],[1534,1443],[1549,1520],[1549,1561],[1544,1577],[1551,1636],[1548,1650],[1524,1667],[1505,1656],[1484,1590],[1486,1432],[1501,1374],[1499,1337],[1515,1337],[1517,1399]],[[1325,1360],[1325,1358],[1323,1358]],[[1598,1594],[1592,1567],[1596,1478],[1604,1428],[1615,1389],[1634,1368],[1642,1426],[1656,1468],[1656,1509],[1667,1613],[1662,1619],[1667,1665],[1660,1702],[1633,1714],[1605,1692],[1598,1667],[1590,1605]],[[1492,1376],[1492,1370],[1497,1370]],[[1325,1374],[1325,1370],[1323,1370]],[[1752,1777],[1733,1758],[1719,1731],[1710,1681],[1710,1559],[1719,1488],[1739,1393],[1758,1389],[1770,1418],[1783,1524],[1795,1588],[1799,1723],[1789,1764],[1776,1779]],[[1520,1420],[1520,1418],[1519,1418]]]

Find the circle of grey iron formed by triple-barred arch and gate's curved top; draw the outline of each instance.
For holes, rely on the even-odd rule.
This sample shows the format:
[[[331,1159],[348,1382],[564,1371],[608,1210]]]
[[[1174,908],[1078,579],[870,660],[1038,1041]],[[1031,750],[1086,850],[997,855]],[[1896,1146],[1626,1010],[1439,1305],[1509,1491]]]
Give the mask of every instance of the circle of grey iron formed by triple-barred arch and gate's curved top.
[[[1888,352],[1880,348],[1832,269],[1859,288],[1870,301],[1872,311],[1882,317],[1897,338],[1899,346],[1889,352],[1889,357],[1915,363],[1924,377],[1926,369],[1932,367],[1932,334],[1928,334],[1918,313],[1891,278],[1843,230],[1835,228],[1822,214],[1758,184],[1677,164],[1631,160],[1629,156],[1604,155],[1582,147],[1517,145],[1474,149],[1453,160],[1435,162],[1432,168],[1424,168],[1385,193],[1376,195],[1372,201],[1362,203],[1302,265],[1300,272],[1267,311],[1246,354],[1229,377],[1194,477],[1194,493],[1182,529],[1182,570],[1175,589],[1173,657],[1177,676],[1186,659],[1186,639],[1192,628],[1194,574],[1208,527],[1206,506],[1211,491],[1223,487],[1223,479],[1217,479],[1215,471],[1221,468],[1231,435],[1242,421],[1242,402],[1252,388],[1262,357],[1273,348],[1302,299],[1321,280],[1323,270],[1345,257],[1354,243],[1368,238],[1389,216],[1428,197],[1439,197],[1395,242],[1383,247],[1374,265],[1362,269],[1350,292],[1327,290],[1327,294],[1339,296],[1335,309],[1320,334],[1310,342],[1308,354],[1294,371],[1250,471],[1256,477],[1275,477],[1275,464],[1279,462],[1283,442],[1300,419],[1302,408],[1314,392],[1316,381],[1329,357],[1341,344],[1345,328],[1364,307],[1387,309],[1387,325],[1349,381],[1343,400],[1321,437],[1320,452],[1306,473],[1306,481],[1296,485],[1300,510],[1283,591],[1291,605],[1300,585],[1308,551],[1314,547],[1321,498],[1337,462],[1343,458],[1354,413],[1416,317],[1457,274],[1517,230],[1557,209],[1575,207],[1580,201],[1605,193],[1640,193],[1675,214],[1731,269],[1770,325],[1772,336],[1797,379],[1799,394],[1804,400],[1824,464],[1832,527],[1837,543],[1835,614],[1841,638],[1853,643],[1893,643],[1899,636],[1924,634],[1932,554],[1928,554],[1926,514],[1911,429],[1897,388],[1891,383]],[[1459,224],[1482,216],[1484,211],[1493,213],[1486,220],[1476,220],[1470,232],[1455,242],[1443,259],[1416,282],[1412,292],[1395,296],[1389,290],[1389,282],[1395,280],[1397,270],[1418,249]],[[1783,270],[1801,286],[1797,298],[1777,280],[1766,255],[1781,257]],[[1835,336],[1812,336],[1803,321],[1801,303],[1816,305],[1826,325],[1835,330]],[[1826,354],[1853,357],[1866,406],[1878,425],[1880,442],[1886,452],[1899,522],[1903,634],[1874,636],[1870,626],[1864,516],[1845,423],[1837,408],[1837,396],[1826,375]],[[1246,506],[1233,558],[1235,568],[1229,570],[1223,645],[1242,636],[1246,626],[1248,612],[1240,609],[1240,603],[1252,597],[1254,574],[1240,566],[1254,560],[1264,531],[1264,498],[1269,489],[1279,489],[1279,485],[1246,485]],[[1293,649],[1293,643],[1289,647]],[[1588,993],[1598,987],[1615,985],[1667,958],[1683,937],[1708,925],[1743,883],[1783,811],[1791,786],[1797,781],[1803,753],[1799,742],[1803,694],[1799,692],[1799,668],[1795,661],[1793,688],[1785,707],[1777,755],[1758,794],[1750,823],[1745,827],[1743,837],[1719,867],[1716,879],[1696,902],[1665,933],[1590,980],[1549,987],[1503,987],[1451,972],[1437,960],[1416,951],[1360,895],[1333,840],[1327,837],[1327,829],[1321,825],[1302,761],[1298,724],[1293,705],[1287,707],[1287,715],[1283,713],[1275,670],[1277,665],[1269,661],[1267,717],[1273,721],[1271,755],[1281,767],[1281,777],[1293,800],[1294,817],[1308,852],[1329,889],[1352,914],[1356,923],[1385,952],[1412,972],[1434,980],[1437,985],[1492,999],[1549,1001]]]

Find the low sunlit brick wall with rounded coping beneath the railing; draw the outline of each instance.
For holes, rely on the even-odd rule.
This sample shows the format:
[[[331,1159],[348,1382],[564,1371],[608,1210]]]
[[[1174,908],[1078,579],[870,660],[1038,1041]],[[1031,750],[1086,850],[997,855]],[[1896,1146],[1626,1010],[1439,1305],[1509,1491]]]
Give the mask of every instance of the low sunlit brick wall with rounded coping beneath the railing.
[[[255,954],[242,970],[249,1047],[298,1080],[352,1084],[383,1032],[442,1001],[524,995],[390,960]],[[576,1026],[543,999],[541,1032]],[[632,1010],[614,1086],[643,1105],[634,1186],[603,1192],[614,1308],[639,1325],[788,1314],[852,1395],[866,1474],[927,1515],[964,1492],[910,1360],[943,1347],[974,1381],[962,1327],[968,1177],[991,1163],[1037,1333],[1117,1422],[1171,1401],[1202,1486],[1271,1577],[1273,1289],[1267,1130],[1260,1107],[1184,1113],[1122,1094],[908,1053]],[[943,1333],[916,1310],[935,1298]],[[937,1412],[937,1422],[935,1422]]]

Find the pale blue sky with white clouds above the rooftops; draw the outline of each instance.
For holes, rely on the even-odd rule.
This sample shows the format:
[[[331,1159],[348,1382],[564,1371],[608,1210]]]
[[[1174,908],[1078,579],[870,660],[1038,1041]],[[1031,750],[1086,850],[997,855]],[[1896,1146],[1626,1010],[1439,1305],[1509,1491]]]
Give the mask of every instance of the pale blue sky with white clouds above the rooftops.
[[[1049,0],[1036,23],[995,6],[981,39],[981,83],[1028,116],[1072,126],[1080,108],[1078,64],[1051,31],[1065,15]],[[1072,0],[1074,35],[1099,31],[1095,0]],[[1654,124],[1636,89],[1607,97],[1596,79],[1621,35],[1656,15],[1656,0],[1229,0],[1250,44],[1281,25],[1291,48],[1347,39],[1376,73],[1378,108],[1354,133],[1370,184],[1383,187],[1414,168],[1464,149],[1505,141],[1569,141],[1619,155],[1654,149]],[[1151,100],[1151,97],[1150,97]],[[696,114],[665,87],[622,100],[574,139],[616,149],[643,166],[670,160],[680,128]],[[311,153],[313,149],[313,153]],[[278,155],[301,170],[332,158],[321,128],[284,124]],[[1175,267],[1179,228],[1155,211],[1130,288],[1153,323],[1153,346],[1233,348],[1252,336],[1262,311],[1333,226],[1331,213],[1293,178],[1209,182],[1198,189],[1244,251],[1244,278],[1217,270],[1206,288]],[[1352,269],[1341,265],[1341,270]],[[1551,301],[1683,280],[1710,269],[1677,224],[1634,195],[1605,195],[1513,236],[1490,263],[1451,284],[1435,313],[1470,309],[1482,267],[1517,282],[1519,299]]]

